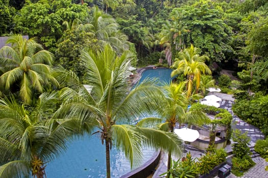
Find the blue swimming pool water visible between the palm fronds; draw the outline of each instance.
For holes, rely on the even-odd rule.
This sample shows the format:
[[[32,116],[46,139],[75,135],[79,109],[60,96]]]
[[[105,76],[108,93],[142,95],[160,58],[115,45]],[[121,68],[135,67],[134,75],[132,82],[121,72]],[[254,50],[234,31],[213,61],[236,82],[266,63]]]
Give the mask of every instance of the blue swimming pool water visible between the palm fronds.
[[[142,73],[144,78],[159,78],[160,82],[170,82],[170,69],[148,69]],[[143,162],[149,160],[155,151],[144,149]],[[130,163],[125,154],[112,149],[111,177],[120,177],[130,172]],[[105,145],[96,135],[91,138],[77,138],[68,143],[68,150],[46,166],[47,178],[89,178],[106,177]]]

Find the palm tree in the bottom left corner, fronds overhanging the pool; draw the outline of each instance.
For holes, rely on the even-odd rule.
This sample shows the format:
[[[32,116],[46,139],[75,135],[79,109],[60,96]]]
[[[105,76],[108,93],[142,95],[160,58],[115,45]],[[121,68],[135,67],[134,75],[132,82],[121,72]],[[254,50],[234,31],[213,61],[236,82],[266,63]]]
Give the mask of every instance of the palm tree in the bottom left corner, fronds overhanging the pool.
[[[0,177],[44,177],[45,164],[66,150],[68,136],[79,133],[79,120],[54,118],[57,102],[57,93],[41,94],[34,108],[14,97],[0,100]]]

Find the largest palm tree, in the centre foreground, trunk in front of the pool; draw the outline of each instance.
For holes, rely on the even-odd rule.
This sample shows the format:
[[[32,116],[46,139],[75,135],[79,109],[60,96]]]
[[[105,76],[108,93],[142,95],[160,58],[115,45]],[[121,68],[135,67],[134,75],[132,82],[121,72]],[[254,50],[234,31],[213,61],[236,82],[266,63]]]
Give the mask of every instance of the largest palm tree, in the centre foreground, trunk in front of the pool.
[[[90,130],[97,130],[93,134],[99,134],[105,144],[107,177],[110,177],[112,145],[125,152],[134,167],[142,157],[142,145],[181,154],[181,140],[175,134],[127,125],[136,117],[145,116],[145,113],[152,114],[153,109],[161,105],[162,98],[154,81],[141,82],[129,91],[133,54],[125,51],[117,56],[111,46],[106,45],[101,51],[84,51],[81,57],[88,69],[85,81],[89,85],[85,86],[84,92],[66,88],[63,96],[71,100],[70,105],[76,106],[77,113],[86,112],[89,108],[98,110],[94,114],[80,114],[79,117]],[[77,109],[73,109],[72,113]],[[95,122],[87,122],[87,118],[94,118]]]

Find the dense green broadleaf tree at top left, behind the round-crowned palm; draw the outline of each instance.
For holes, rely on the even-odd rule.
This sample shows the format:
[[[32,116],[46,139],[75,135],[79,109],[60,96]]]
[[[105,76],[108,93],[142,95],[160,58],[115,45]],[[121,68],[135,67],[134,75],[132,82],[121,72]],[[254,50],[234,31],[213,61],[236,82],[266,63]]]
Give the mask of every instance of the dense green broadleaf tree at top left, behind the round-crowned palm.
[[[46,48],[54,52],[64,31],[62,23],[77,18],[84,21],[87,17],[86,4],[73,4],[71,0],[44,0],[36,3],[27,1],[14,17],[14,30],[30,37],[38,37]]]

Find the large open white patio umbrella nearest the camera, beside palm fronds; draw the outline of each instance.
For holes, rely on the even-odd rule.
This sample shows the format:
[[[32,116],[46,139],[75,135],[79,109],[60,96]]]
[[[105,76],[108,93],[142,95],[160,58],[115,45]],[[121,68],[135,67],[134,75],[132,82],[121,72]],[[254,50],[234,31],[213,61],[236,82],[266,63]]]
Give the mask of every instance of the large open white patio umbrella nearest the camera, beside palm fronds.
[[[175,129],[174,133],[177,134],[184,141],[184,153],[187,152],[185,150],[185,141],[193,142],[200,136],[197,130],[192,130],[188,128]]]

